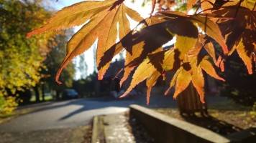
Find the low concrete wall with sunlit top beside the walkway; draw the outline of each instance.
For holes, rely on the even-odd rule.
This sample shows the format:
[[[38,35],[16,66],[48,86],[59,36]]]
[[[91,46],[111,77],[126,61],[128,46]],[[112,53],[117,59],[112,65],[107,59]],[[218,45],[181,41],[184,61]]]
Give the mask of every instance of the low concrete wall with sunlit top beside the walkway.
[[[211,132],[209,129],[173,119],[139,105],[131,105],[130,113],[160,143],[231,142],[229,139]]]

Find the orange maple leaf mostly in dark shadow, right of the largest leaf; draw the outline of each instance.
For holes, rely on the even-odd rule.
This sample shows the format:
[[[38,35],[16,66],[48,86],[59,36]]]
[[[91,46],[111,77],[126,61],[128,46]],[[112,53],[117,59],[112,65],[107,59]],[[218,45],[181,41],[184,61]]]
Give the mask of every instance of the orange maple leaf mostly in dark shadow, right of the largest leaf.
[[[121,80],[121,83],[127,79],[129,73],[134,69],[134,66],[139,65],[142,61],[147,57],[148,54],[152,54],[156,51],[161,51],[161,46],[171,39],[173,39],[173,35],[170,34],[166,29],[165,25],[167,23],[161,22],[157,17],[151,16],[150,19],[146,19],[146,25],[141,22],[142,29],[135,28],[131,31],[127,36],[124,36],[117,44],[111,46],[111,48],[106,51],[104,56],[101,58],[101,62],[99,64],[99,68],[106,64],[104,60],[105,57],[109,56],[108,52],[114,52],[116,47],[119,46],[119,43],[122,43],[122,46],[127,51],[127,59],[125,62],[125,73],[124,77]],[[140,26],[140,24],[139,24]],[[137,26],[138,27],[138,26]],[[113,57],[112,54],[110,57]]]

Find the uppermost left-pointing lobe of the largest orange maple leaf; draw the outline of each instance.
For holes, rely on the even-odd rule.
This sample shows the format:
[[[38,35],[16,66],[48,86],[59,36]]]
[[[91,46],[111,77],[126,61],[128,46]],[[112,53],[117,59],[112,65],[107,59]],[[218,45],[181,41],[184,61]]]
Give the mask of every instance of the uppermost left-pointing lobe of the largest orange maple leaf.
[[[54,30],[69,29],[73,26],[79,26],[92,16],[104,11],[116,2],[116,0],[106,1],[83,1],[72,6],[67,6],[58,11],[55,16],[47,21],[45,26],[40,29],[35,29],[27,34],[27,37],[33,34],[42,34]]]

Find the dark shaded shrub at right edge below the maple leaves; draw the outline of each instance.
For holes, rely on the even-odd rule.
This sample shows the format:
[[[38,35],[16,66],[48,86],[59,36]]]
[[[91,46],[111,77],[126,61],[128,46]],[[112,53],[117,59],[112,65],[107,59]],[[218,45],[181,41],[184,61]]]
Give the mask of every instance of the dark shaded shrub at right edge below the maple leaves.
[[[239,104],[254,104],[256,101],[256,74],[248,74],[237,52],[227,59],[222,75],[226,82],[217,81],[221,96],[233,99]]]

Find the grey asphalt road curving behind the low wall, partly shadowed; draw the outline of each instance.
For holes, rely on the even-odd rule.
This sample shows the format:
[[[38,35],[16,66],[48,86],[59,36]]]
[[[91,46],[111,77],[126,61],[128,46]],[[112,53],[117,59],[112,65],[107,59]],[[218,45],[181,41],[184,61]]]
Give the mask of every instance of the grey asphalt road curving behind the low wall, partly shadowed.
[[[150,108],[176,106],[173,97],[152,97],[149,106],[146,104],[146,97],[89,98],[52,102],[46,107],[0,124],[0,132],[31,132],[42,129],[81,127],[89,124],[94,116],[124,112],[130,104],[140,104]],[[40,106],[42,105],[34,105],[34,107]]]

